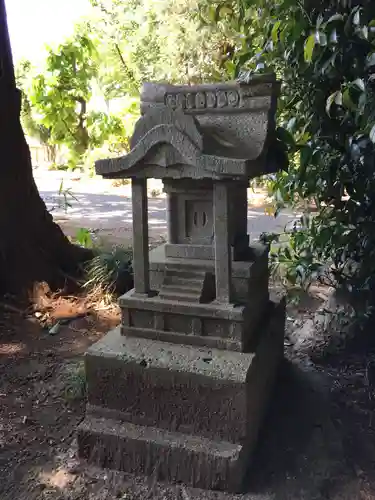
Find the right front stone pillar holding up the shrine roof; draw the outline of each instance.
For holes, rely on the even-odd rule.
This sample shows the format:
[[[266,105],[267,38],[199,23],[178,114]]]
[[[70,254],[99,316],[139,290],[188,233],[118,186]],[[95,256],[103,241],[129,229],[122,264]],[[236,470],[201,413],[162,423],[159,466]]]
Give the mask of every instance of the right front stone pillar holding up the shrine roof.
[[[226,182],[214,182],[214,235],[216,301],[232,302],[232,258],[230,245],[229,186]]]

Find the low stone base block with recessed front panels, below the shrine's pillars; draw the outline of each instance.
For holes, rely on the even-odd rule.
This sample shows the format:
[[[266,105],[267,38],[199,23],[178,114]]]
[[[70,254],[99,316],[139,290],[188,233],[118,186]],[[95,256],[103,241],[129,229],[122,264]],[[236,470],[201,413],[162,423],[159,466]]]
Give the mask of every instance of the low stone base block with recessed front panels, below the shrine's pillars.
[[[253,352],[257,330],[269,313],[268,291],[259,291],[246,306],[140,297],[134,290],[119,304],[125,336],[242,352]]]

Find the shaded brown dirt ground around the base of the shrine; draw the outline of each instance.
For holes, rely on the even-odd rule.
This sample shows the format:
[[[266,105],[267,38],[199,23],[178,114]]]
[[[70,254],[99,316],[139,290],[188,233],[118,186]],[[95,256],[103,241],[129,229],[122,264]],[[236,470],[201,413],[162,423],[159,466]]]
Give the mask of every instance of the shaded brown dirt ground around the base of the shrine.
[[[80,463],[75,432],[85,407],[82,356],[119,322],[118,310],[80,306],[87,316],[50,335],[43,324],[76,314],[77,304],[44,304],[36,315],[0,305],[0,499],[375,499],[375,348],[306,363],[289,334],[318,302],[289,306],[286,359],[243,496]]]

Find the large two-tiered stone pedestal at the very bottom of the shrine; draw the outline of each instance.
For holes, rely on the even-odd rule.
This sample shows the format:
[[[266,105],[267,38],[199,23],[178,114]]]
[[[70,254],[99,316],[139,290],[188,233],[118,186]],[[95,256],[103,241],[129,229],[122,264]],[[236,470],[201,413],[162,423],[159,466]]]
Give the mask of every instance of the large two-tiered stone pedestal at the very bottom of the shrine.
[[[160,480],[240,492],[283,355],[285,302],[270,301],[252,353],[109,332],[86,354],[79,455]]]

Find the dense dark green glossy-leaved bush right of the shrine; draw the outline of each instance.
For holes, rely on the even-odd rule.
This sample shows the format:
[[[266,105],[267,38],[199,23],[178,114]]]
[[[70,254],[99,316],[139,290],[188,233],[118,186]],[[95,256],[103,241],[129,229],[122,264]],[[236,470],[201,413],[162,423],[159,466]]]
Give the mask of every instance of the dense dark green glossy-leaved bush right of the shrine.
[[[278,132],[290,168],[273,183],[279,207],[313,199],[279,252],[289,277],[327,272],[359,302],[375,286],[375,5],[371,0],[239,0],[202,6],[234,42],[227,70],[274,70],[283,81]],[[366,307],[366,314],[369,309]]]

